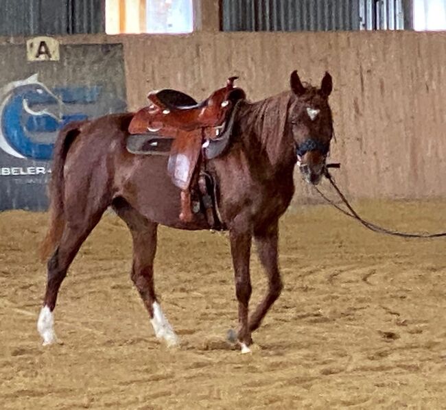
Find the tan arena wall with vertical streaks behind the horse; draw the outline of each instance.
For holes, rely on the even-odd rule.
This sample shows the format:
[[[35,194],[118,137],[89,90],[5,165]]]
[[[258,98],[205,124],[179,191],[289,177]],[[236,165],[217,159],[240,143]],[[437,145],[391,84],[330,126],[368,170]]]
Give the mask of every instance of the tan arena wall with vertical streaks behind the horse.
[[[62,43],[124,44],[128,107],[154,88],[197,99],[239,75],[252,100],[287,89],[298,69],[333,76],[331,160],[351,197],[446,197],[446,33],[222,33],[69,36]],[[14,39],[14,41],[21,41]],[[1,43],[1,41],[0,41]],[[296,179],[297,196],[313,197]]]

